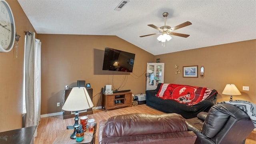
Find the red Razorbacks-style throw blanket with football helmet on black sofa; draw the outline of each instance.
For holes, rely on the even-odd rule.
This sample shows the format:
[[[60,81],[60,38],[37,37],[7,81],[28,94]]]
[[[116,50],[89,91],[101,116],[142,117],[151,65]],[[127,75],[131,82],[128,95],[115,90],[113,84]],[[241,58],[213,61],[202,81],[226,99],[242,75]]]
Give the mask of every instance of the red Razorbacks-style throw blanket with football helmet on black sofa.
[[[212,90],[212,88],[180,84],[162,84],[156,96],[164,100],[176,100],[177,102],[186,104],[186,106],[192,106],[214,95],[215,92],[212,93]]]

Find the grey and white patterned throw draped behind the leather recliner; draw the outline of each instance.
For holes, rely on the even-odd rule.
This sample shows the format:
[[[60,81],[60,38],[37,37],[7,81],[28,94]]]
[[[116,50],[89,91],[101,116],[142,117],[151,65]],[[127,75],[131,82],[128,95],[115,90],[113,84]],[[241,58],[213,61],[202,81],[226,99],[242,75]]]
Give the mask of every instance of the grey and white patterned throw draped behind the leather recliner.
[[[252,120],[252,123],[254,124],[254,127],[256,128],[256,105],[252,102],[248,102],[245,100],[234,100],[234,101],[226,101],[226,102],[219,102],[218,104],[226,103],[226,104],[232,104],[240,109],[242,109],[244,112],[248,114],[250,119]]]

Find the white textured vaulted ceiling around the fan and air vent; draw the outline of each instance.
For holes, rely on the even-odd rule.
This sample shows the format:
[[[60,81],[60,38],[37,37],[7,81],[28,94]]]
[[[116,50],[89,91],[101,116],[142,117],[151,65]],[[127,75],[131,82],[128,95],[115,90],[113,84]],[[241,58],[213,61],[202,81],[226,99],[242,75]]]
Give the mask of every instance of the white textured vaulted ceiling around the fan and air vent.
[[[151,54],[166,54],[206,46],[256,39],[255,0],[130,0],[120,11],[121,0],[18,0],[38,34],[115,35]],[[173,32],[161,42],[147,26],[192,25]],[[118,49],[118,48],[116,48]]]

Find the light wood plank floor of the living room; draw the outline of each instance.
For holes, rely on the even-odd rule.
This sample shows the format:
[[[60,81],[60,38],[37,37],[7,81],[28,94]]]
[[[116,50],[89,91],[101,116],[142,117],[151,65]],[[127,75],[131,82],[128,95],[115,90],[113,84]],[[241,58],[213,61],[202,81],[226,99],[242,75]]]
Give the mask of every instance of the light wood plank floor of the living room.
[[[108,110],[105,112],[104,109],[93,110],[94,114],[89,115],[89,118],[95,119],[96,123],[99,123],[100,120],[106,120],[111,116],[122,115],[122,114],[131,114],[131,113],[146,113],[146,114],[163,114],[158,110],[154,110],[146,104],[118,108],[114,110]],[[51,116],[46,118],[41,118],[38,126],[38,134],[35,138],[34,144],[52,144],[55,138],[58,136],[61,130],[65,130],[67,125],[73,125],[74,118],[69,118],[63,120],[63,116]],[[96,140],[95,144],[98,144],[98,127],[96,131]],[[256,144],[256,132],[252,132],[246,139],[246,144]]]

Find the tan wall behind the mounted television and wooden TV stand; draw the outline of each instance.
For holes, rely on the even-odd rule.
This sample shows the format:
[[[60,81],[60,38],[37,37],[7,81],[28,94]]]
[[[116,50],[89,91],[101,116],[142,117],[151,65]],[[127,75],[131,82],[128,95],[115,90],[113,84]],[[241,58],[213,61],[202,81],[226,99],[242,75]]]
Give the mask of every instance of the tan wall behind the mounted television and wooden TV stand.
[[[134,94],[145,93],[146,63],[154,56],[117,36],[38,34],[42,42],[41,114],[61,112],[65,85],[86,80],[93,88],[94,107],[101,106],[99,93],[106,84]],[[134,53],[132,73],[102,70],[104,49],[110,47]]]

